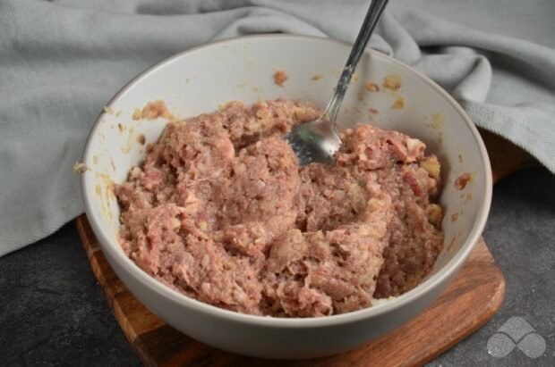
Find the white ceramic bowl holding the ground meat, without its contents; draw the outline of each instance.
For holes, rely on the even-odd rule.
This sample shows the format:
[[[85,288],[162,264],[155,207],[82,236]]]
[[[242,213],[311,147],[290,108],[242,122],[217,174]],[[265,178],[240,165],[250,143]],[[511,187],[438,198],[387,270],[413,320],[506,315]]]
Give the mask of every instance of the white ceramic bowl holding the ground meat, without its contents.
[[[428,145],[439,156],[445,182],[440,203],[446,209],[445,248],[434,271],[403,296],[371,308],[312,319],[281,319],[219,309],[183,296],[141,271],[121,250],[116,236],[119,208],[111,181],[126,179],[141,163],[144,134],[155,142],[166,121],[132,121],[132,112],[156,99],[182,116],[208,113],[230,100],[308,99],[325,106],[346,61],[350,45],[324,38],[266,35],[220,41],[176,54],[144,71],[108,104],[90,132],[83,162],[82,196],[92,229],[117,275],[152,312],[192,338],[227,351],[273,358],[308,358],[361,346],[420,313],[457,274],[482,233],[491,203],[491,169],[482,139],[458,104],[430,79],[403,63],[367,50],[347,92],[339,120],[344,126],[370,121],[397,129]],[[286,71],[284,88],[274,84],[276,69]],[[403,87],[368,92],[367,81],[381,85],[395,74]],[[314,76],[317,76],[313,78]],[[316,80],[315,80],[316,79]],[[401,97],[404,107],[391,109]],[[379,113],[369,113],[369,109]],[[118,129],[118,124],[124,128]],[[464,190],[454,181],[474,179]],[[453,214],[457,221],[451,221]],[[440,338],[440,336],[438,336]]]

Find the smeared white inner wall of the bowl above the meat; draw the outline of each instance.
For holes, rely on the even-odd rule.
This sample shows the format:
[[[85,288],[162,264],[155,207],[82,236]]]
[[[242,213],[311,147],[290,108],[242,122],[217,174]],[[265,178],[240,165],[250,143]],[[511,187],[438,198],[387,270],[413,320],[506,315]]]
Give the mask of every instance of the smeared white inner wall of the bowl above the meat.
[[[349,51],[350,46],[323,38],[235,38],[175,55],[134,79],[115,96],[108,112],[98,117],[83,158],[90,168],[82,181],[87,213],[107,235],[102,245],[124,256],[117,242],[119,208],[111,182],[123,182],[131,167],[141,163],[146,147],[139,143],[140,137],[144,136],[146,143],[156,142],[166,124],[164,119],[132,120],[136,108],[161,99],[172,113],[187,117],[215,111],[218,104],[231,100],[250,104],[280,96],[306,99],[324,107]],[[272,79],[277,69],[288,76],[284,87]],[[391,75],[401,80],[397,91],[382,86],[384,78]],[[369,91],[368,82],[375,83],[380,91]],[[463,247],[473,245],[466,244],[467,238],[483,221],[491,182],[483,147],[465,114],[445,92],[401,63],[373,51],[363,55],[339,115],[342,127],[369,121],[422,139],[427,153],[440,158],[445,246],[433,275]],[[473,179],[464,189],[457,189],[454,183],[464,173]]]

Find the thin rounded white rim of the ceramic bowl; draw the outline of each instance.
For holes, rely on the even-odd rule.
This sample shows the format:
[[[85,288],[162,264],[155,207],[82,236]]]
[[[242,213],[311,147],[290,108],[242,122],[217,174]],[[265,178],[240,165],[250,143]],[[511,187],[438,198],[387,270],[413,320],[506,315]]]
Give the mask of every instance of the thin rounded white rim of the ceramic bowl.
[[[166,59],[155,63],[154,65],[147,68],[145,71],[139,73],[136,77],[132,78],[127,84],[121,88],[115,96],[113,96],[107,107],[111,107],[112,104],[120,98],[120,96],[124,95],[129,89],[131,89],[135,84],[141,82],[142,79],[147,78],[151,73],[154,73],[158,70],[158,68],[173,63],[179,58],[183,57],[184,55],[194,53],[201,49],[209,48],[209,47],[220,47],[220,46],[228,46],[233,45],[234,43],[243,43],[249,41],[275,41],[275,40],[302,40],[307,42],[323,42],[329,44],[335,44],[338,46],[345,46],[346,50],[350,49],[352,44],[340,41],[333,38],[323,38],[317,36],[306,36],[306,35],[294,35],[294,34],[261,34],[261,35],[251,35],[251,36],[243,36],[237,38],[226,38],[221,39],[213,42],[209,42],[206,44],[202,44],[200,46],[194,46],[177,54],[173,54],[172,56],[167,57]],[[491,175],[491,165],[490,159],[487,154],[486,148],[483,144],[482,137],[480,136],[478,129],[474,126],[474,122],[471,121],[470,117],[465,113],[463,108],[455,101],[452,96],[449,96],[448,93],[440,88],[440,86],[435,83],[433,80],[428,78],[427,76],[423,75],[423,73],[414,70],[412,67],[407,65],[406,63],[402,63],[395,58],[389,56],[388,54],[382,54],[379,51],[373,50],[370,47],[367,47],[364,50],[364,54],[371,54],[371,57],[376,57],[385,60],[387,63],[393,63],[397,67],[401,69],[405,69],[409,73],[413,73],[418,78],[422,79],[423,82],[427,83],[431,86],[439,96],[443,97],[447,100],[448,104],[451,104],[457,113],[460,115],[463,121],[465,121],[466,128],[470,130],[471,135],[474,137],[474,143],[478,146],[479,154],[482,158],[482,165],[485,172],[483,179],[484,185],[484,200],[481,204],[479,209],[479,213],[477,215],[477,221],[474,222],[474,226],[471,231],[467,234],[465,238],[465,243],[461,248],[458,250],[457,254],[451,258],[448,263],[446,263],[440,271],[433,274],[429,279],[424,280],[423,283],[419,284],[417,287],[411,289],[410,291],[406,292],[401,296],[397,296],[395,299],[392,299],[383,304],[377,304],[368,308],[364,308],[361,310],[357,310],[351,313],[342,313],[337,315],[330,315],[326,317],[312,317],[312,318],[279,318],[279,317],[269,317],[269,316],[260,316],[260,315],[252,315],[252,314],[245,314],[245,313],[237,313],[235,311],[229,311],[211,304],[205,304],[201,301],[198,301],[192,297],[184,296],[181,293],[175,291],[172,288],[167,287],[163,283],[158,282],[158,280],[152,278],[146,272],[142,271],[135,263],[129,259],[121,248],[115,248],[112,245],[111,241],[115,241],[114,238],[110,238],[107,235],[107,232],[102,228],[100,221],[98,220],[97,216],[94,215],[92,211],[92,207],[94,206],[94,188],[92,185],[88,183],[88,177],[90,171],[86,171],[85,173],[81,174],[81,197],[82,201],[85,206],[85,213],[87,214],[87,218],[90,221],[91,228],[95,236],[98,238],[98,243],[102,249],[102,251],[107,253],[108,260],[113,260],[119,267],[121,267],[124,271],[127,271],[134,279],[137,279],[143,286],[149,288],[150,291],[156,293],[158,296],[162,296],[167,298],[168,300],[182,304],[185,307],[192,308],[197,313],[203,313],[210,317],[216,317],[220,319],[226,319],[227,321],[233,321],[243,324],[250,324],[256,326],[267,326],[267,327],[274,327],[274,328],[315,328],[315,327],[326,327],[338,324],[346,324],[355,321],[361,321],[363,319],[370,319],[372,317],[378,316],[383,313],[390,313],[394,310],[397,310],[406,304],[410,304],[414,300],[425,296],[433,291],[434,288],[440,286],[440,284],[445,280],[449,279],[453,276],[465,262],[466,258],[474,248],[474,245],[478,242],[480,236],[482,235],[482,231],[485,227],[485,223],[487,221],[490,207],[491,207],[491,196],[492,196],[492,175]],[[83,149],[82,154],[82,161],[81,162],[90,162],[90,148],[93,143],[94,137],[97,135],[97,129],[100,126],[102,118],[104,116],[103,113],[99,113],[97,120],[93,124],[92,128],[90,129],[89,136],[86,140],[85,147]],[[115,242],[117,246],[117,242]],[[115,267],[116,268],[116,267]],[[162,315],[159,315],[162,316]]]

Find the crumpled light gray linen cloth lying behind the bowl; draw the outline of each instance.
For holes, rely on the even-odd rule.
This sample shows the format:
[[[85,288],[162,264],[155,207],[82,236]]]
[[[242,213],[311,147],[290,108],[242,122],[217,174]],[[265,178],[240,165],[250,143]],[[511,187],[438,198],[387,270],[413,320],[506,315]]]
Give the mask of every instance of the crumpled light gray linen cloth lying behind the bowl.
[[[90,126],[134,75],[213,39],[352,42],[369,0],[0,0],[0,255],[82,213]],[[555,172],[555,1],[392,0],[371,46]]]

